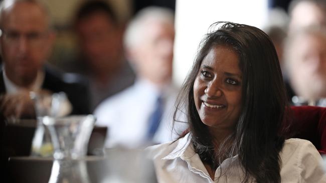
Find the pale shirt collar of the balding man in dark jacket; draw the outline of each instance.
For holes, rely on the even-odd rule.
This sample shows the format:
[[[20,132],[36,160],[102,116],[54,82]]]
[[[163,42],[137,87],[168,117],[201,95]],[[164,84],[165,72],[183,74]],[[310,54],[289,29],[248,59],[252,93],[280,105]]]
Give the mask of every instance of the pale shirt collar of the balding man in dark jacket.
[[[3,77],[4,77],[4,83],[5,83],[7,93],[17,93],[19,90],[23,89],[23,87],[18,86],[7,77],[4,66],[3,66]],[[31,84],[31,86],[28,89],[30,91],[39,90],[42,86],[43,81],[44,81],[44,71],[40,70],[38,71],[35,81]]]

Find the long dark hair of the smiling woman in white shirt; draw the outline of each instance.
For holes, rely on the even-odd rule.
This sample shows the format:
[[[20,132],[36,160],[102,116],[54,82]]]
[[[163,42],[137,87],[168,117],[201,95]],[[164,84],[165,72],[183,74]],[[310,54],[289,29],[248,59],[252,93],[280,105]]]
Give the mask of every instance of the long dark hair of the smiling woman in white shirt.
[[[280,182],[279,152],[285,139],[282,125],[288,103],[275,47],[268,35],[254,26],[216,22],[210,29],[182,86],[175,122],[179,112],[186,114],[195,150],[212,169],[237,154],[245,173],[242,182]],[[214,148],[213,136],[199,117],[193,89],[204,57],[217,45],[238,54],[243,74],[242,110],[235,131],[219,149]]]

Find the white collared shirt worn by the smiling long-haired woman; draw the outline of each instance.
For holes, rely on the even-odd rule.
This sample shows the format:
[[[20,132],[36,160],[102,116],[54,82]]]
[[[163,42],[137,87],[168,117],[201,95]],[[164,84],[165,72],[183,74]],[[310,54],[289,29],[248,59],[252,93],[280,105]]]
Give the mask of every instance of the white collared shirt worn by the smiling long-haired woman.
[[[213,181],[191,143],[188,133],[171,143],[158,144],[146,149],[153,158],[157,180],[160,183],[188,182],[241,182],[244,173],[237,156],[225,159],[215,172]],[[308,140],[290,138],[285,140],[281,159],[281,182],[326,182],[322,158]],[[228,174],[224,170],[230,168]]]

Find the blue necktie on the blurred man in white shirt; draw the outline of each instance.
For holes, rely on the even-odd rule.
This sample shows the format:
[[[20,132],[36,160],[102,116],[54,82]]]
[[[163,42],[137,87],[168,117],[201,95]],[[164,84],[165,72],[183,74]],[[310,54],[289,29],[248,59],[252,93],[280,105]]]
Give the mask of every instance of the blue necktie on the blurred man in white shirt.
[[[163,113],[163,100],[160,95],[156,98],[154,107],[155,108],[148,119],[147,139],[149,140],[153,138],[157,131]]]

